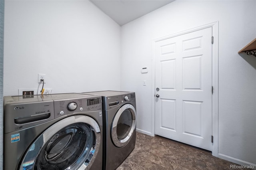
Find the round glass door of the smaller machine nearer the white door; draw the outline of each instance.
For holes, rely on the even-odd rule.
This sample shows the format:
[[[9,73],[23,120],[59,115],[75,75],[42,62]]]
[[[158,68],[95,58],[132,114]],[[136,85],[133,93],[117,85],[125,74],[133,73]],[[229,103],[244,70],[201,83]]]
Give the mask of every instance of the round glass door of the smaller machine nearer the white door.
[[[136,110],[131,104],[123,105],[116,113],[111,126],[111,138],[117,147],[125,146],[136,127]]]

